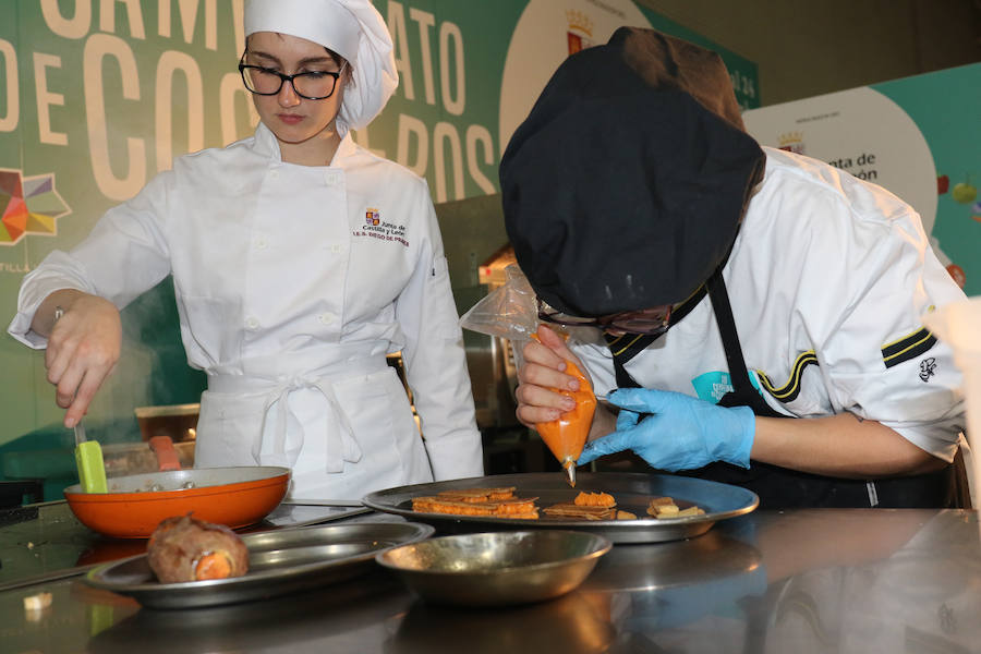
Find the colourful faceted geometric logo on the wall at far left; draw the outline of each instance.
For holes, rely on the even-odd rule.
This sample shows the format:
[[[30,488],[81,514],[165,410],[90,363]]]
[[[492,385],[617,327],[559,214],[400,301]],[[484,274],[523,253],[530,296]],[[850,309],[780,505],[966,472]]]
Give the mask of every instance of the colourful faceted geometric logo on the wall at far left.
[[[20,170],[0,169],[0,245],[13,245],[24,234],[55,235],[56,220],[70,213],[53,173],[25,179]]]

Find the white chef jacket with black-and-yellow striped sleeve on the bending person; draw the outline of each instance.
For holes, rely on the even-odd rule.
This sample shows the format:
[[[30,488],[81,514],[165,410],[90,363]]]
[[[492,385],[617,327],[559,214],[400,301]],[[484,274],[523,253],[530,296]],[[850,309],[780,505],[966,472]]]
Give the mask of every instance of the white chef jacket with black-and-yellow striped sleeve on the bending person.
[[[965,295],[919,215],[832,166],[763,149],[765,178],[723,269],[753,385],[785,415],[847,411],[950,461],[964,428],[961,375],[920,316]],[[616,388],[604,342],[572,349],[597,393]],[[707,294],[625,367],[644,388],[712,402],[732,390]]]

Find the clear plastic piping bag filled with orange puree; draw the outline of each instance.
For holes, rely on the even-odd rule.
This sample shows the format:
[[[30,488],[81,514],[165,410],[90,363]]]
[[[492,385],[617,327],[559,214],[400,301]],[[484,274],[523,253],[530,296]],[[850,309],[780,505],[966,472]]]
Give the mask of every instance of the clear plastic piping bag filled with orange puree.
[[[460,318],[460,325],[472,331],[497,336],[512,341],[510,348],[516,364],[522,365],[521,352],[524,343],[537,340],[538,312],[535,304],[535,292],[517,264],[505,268],[505,283],[474,304]],[[554,326],[558,327],[558,326]],[[562,330],[556,329],[561,336]],[[542,440],[558,459],[570,486],[576,486],[576,461],[582,453],[593,413],[596,410],[596,397],[586,375],[571,361],[567,361],[566,373],[579,379],[579,390],[559,390],[576,400],[576,408],[562,413],[557,420],[538,423],[535,429]]]

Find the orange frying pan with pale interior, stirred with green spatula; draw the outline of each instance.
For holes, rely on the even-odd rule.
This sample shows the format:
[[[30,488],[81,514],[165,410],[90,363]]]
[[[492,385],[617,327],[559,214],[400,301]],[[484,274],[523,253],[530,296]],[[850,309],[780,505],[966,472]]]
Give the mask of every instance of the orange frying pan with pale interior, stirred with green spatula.
[[[286,496],[290,470],[278,467],[199,468],[109,480],[108,493],[64,489],[82,524],[117,538],[146,538],[165,518],[193,512],[232,529],[261,521]]]

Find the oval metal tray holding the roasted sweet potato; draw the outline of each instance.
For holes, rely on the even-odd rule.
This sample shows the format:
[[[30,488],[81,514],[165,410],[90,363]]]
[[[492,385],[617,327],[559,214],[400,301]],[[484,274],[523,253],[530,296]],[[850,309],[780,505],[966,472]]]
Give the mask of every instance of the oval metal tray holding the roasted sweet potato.
[[[350,579],[374,566],[379,552],[422,541],[434,531],[428,524],[392,522],[261,532],[242,536],[249,547],[244,577],[159,583],[141,554],[92,570],[85,582],[149,608],[233,604]]]

